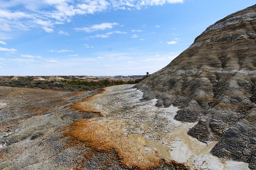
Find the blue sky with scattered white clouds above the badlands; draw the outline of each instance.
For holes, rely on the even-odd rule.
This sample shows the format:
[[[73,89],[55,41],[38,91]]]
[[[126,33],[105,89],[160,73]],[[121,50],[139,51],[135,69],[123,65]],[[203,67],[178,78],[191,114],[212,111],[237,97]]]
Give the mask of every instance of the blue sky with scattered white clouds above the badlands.
[[[255,0],[0,0],[0,75],[144,75]]]

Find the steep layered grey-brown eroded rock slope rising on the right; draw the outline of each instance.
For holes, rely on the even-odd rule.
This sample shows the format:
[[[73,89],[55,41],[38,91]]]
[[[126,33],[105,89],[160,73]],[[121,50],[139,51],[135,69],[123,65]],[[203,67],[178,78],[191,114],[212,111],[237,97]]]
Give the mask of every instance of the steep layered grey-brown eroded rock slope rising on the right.
[[[209,26],[170,64],[137,85],[157,106],[182,108],[189,135],[218,140],[212,154],[256,169],[256,5]]]

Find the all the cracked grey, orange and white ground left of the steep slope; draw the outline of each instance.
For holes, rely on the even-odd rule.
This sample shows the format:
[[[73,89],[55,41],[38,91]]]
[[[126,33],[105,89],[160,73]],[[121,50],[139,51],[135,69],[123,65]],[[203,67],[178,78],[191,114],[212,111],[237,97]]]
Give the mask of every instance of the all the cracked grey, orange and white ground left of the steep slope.
[[[156,107],[134,85],[92,92],[0,88],[0,169],[249,170],[210,154],[177,107]],[[35,97],[36,96],[36,97]]]

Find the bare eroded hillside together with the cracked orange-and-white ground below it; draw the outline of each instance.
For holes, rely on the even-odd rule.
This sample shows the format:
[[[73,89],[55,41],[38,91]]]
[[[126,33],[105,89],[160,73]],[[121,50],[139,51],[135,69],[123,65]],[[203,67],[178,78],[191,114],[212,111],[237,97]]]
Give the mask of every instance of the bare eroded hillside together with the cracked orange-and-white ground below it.
[[[0,169],[255,170],[256,5],[142,82],[0,87]]]

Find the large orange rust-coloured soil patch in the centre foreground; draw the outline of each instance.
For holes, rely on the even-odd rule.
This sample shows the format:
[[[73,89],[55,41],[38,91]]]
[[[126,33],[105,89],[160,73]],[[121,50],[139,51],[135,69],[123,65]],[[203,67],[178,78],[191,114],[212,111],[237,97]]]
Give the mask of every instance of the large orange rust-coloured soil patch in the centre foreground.
[[[126,168],[138,167],[142,170],[160,166],[161,158],[156,152],[144,152],[147,145],[142,135],[123,136],[125,122],[108,120],[98,122],[82,119],[70,125],[64,136],[70,137],[73,144],[82,144],[97,152],[115,150],[120,162]]]

